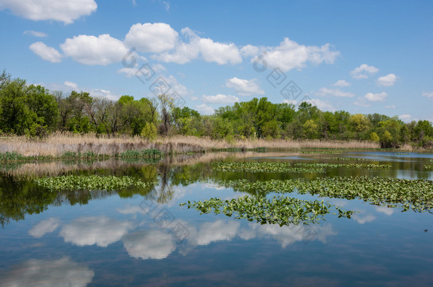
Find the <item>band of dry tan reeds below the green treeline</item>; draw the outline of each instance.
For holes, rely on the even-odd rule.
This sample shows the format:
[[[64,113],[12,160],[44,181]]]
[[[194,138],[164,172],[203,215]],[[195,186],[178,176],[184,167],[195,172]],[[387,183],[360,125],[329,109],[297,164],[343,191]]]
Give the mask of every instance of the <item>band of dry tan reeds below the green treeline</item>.
[[[18,152],[25,156],[60,157],[64,152],[94,152],[95,154],[119,154],[126,150],[155,148],[161,152],[203,152],[224,148],[253,149],[378,149],[376,142],[366,141],[322,141],[322,140],[212,140],[208,137],[175,136],[160,137],[154,142],[141,137],[97,136],[95,134],[77,135],[73,133],[54,133],[44,140],[28,140],[26,137],[0,138],[0,152]],[[411,150],[410,145],[405,150]]]

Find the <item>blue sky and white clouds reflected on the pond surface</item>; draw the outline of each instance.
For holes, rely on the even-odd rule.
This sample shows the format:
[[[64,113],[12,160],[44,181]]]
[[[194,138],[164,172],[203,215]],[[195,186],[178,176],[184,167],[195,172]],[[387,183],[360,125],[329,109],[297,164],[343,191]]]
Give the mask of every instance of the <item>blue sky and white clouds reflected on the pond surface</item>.
[[[61,286],[68,280],[75,286],[126,282],[113,283],[113,278],[135,286],[351,286],[354,282],[419,286],[432,281],[429,213],[401,213],[334,198],[329,201],[359,213],[352,219],[327,215],[327,221],[317,225],[279,227],[225,215],[199,215],[197,210],[178,206],[188,200],[243,195],[231,188],[197,182],[174,186],[173,191],[172,201],[158,208],[167,207],[175,222],[187,228],[189,236],[180,244],[175,234],[161,229],[140,207],[143,196],[50,207],[7,225],[0,232],[0,286],[32,286],[32,282]]]

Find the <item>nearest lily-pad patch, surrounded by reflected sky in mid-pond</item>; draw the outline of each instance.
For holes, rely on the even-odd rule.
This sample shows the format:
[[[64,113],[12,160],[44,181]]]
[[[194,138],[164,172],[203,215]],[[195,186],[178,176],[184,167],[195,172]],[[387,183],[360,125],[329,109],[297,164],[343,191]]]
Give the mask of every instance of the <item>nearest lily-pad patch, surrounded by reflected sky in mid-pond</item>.
[[[324,220],[324,215],[331,213],[334,208],[324,201],[303,201],[298,198],[286,196],[274,196],[272,199],[257,198],[254,196],[243,196],[231,200],[210,198],[207,201],[194,201],[181,203],[180,206],[194,208],[203,213],[235,215],[236,219],[245,218],[249,221],[256,221],[261,224],[298,225],[303,223],[317,223]],[[339,208],[339,217],[350,218],[353,211],[344,211]],[[336,214],[336,213],[335,213]]]

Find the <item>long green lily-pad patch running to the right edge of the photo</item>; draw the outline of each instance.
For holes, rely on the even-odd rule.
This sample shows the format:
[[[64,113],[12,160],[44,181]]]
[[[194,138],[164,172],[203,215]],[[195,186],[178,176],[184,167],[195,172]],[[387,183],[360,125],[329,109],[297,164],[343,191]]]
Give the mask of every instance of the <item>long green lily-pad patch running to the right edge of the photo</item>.
[[[250,182],[245,179],[221,181],[240,191],[301,194],[311,193],[328,198],[361,199],[378,206],[400,207],[416,212],[433,208],[433,181],[422,179],[391,179],[385,177],[324,177],[311,181],[287,179]]]

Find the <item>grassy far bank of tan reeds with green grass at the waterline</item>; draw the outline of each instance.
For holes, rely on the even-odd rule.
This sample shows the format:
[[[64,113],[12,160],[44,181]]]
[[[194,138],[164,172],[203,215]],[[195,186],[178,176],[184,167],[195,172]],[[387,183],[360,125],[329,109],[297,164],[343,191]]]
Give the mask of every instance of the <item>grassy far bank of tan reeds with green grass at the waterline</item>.
[[[376,142],[320,140],[212,140],[207,137],[161,137],[155,141],[141,137],[97,136],[55,133],[44,140],[26,137],[0,138],[0,162],[44,159],[103,159],[107,157],[155,157],[207,151],[244,150],[379,150]],[[410,145],[400,150],[412,150]]]

